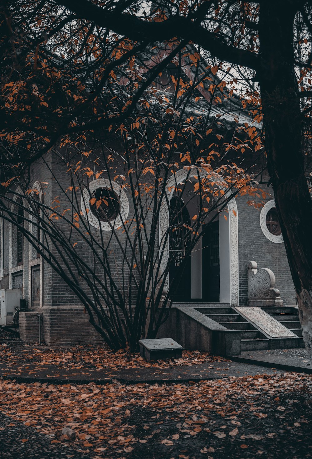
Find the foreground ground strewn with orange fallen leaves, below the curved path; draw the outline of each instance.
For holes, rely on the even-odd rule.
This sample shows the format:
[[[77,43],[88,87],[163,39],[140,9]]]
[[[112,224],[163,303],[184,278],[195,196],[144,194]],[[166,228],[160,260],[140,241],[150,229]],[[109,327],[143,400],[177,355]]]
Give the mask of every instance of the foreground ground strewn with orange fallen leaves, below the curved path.
[[[2,412],[92,458],[312,457],[311,407],[311,376],[295,373],[129,386],[0,381]]]

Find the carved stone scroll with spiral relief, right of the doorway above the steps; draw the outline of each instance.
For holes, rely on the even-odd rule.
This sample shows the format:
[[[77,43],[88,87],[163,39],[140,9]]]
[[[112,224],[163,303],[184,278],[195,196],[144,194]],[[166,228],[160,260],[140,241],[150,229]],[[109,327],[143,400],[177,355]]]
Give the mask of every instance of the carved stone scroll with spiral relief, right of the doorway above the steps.
[[[283,306],[279,290],[275,288],[275,276],[271,269],[257,269],[257,263],[248,263],[248,301],[249,306]]]

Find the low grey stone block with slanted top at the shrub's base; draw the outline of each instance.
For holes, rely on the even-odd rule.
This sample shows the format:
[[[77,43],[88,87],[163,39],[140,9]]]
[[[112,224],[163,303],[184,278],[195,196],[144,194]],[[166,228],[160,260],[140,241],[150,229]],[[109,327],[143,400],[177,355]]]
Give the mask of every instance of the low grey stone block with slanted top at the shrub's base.
[[[181,358],[183,347],[171,338],[139,340],[141,357],[149,360]]]

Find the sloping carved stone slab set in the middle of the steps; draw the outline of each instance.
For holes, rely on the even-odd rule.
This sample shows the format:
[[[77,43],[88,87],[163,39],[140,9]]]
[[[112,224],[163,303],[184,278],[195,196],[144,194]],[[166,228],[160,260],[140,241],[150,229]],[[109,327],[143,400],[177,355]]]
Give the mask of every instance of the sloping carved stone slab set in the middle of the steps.
[[[268,313],[256,306],[239,306],[234,308],[256,329],[267,338],[298,338],[295,333],[284,327],[278,320],[273,319]]]

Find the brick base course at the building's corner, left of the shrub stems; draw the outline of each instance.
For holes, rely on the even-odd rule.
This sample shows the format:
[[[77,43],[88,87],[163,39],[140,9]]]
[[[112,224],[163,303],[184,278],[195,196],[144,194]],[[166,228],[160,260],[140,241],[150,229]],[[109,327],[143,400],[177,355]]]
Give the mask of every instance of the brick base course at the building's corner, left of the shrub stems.
[[[42,308],[42,312],[44,340],[48,346],[103,342],[81,306]]]

